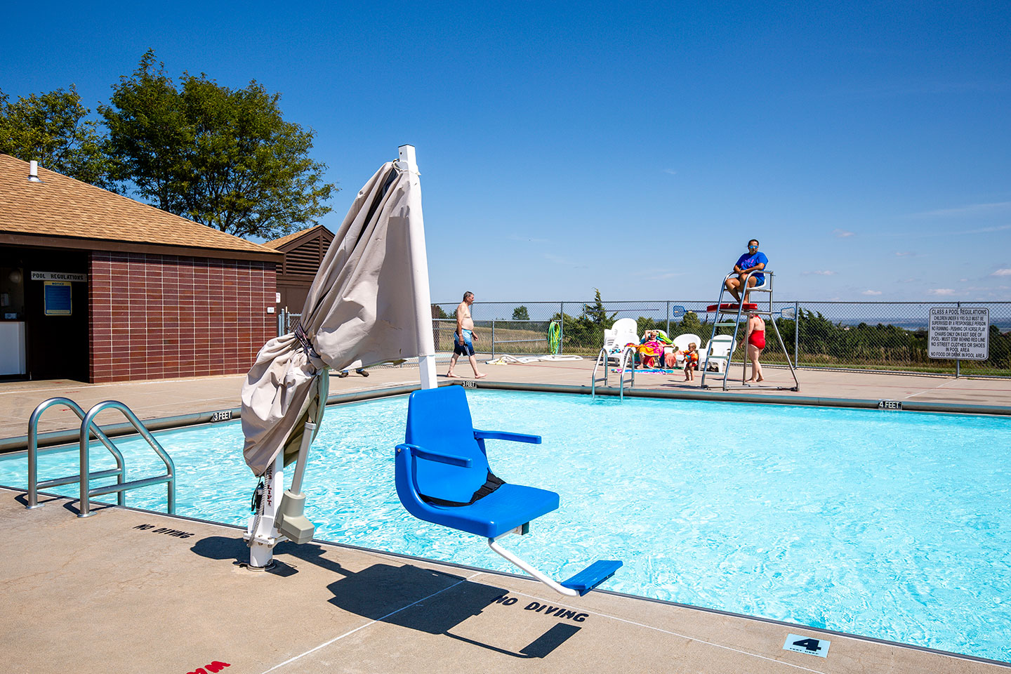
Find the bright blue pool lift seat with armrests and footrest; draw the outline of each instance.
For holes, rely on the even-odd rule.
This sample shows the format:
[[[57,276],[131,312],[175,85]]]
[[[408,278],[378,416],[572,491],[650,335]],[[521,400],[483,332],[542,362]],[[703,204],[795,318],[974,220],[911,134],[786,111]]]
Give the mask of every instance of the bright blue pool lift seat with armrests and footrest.
[[[483,536],[498,555],[554,590],[585,594],[614,575],[619,561],[599,561],[558,583],[501,548],[496,540],[526,534],[530,522],[558,508],[558,494],[509,484],[488,466],[485,440],[541,444],[540,436],[477,430],[460,386],[415,391],[405,442],[396,446],[396,493],[425,521]]]

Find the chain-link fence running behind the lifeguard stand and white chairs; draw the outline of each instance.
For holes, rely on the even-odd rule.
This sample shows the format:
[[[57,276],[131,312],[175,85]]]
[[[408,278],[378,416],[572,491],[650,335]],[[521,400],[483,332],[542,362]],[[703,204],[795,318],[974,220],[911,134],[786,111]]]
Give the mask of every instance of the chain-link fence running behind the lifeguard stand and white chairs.
[[[761,298],[756,298],[761,299]],[[696,334],[704,349],[714,334],[715,313],[710,300],[475,302],[471,306],[475,347],[492,357],[502,354],[543,355],[551,352],[552,323],[558,353],[595,356],[604,330],[619,318],[633,318],[641,335],[662,329],[671,339]],[[432,305],[438,360],[453,351],[458,302]],[[984,307],[990,312],[989,358],[986,361],[949,361],[927,355],[927,327],[932,307]],[[762,302],[760,308],[767,309]],[[802,368],[831,368],[876,372],[960,374],[1011,377],[1011,302],[819,302],[772,303],[775,327],[766,327],[762,363],[785,365],[786,356]],[[279,327],[288,331],[298,314],[284,314]],[[732,317],[721,317],[732,321]],[[767,321],[767,318],[766,318]],[[743,342],[743,326],[739,342]],[[733,332],[732,326],[716,333]],[[784,349],[784,347],[786,349]]]

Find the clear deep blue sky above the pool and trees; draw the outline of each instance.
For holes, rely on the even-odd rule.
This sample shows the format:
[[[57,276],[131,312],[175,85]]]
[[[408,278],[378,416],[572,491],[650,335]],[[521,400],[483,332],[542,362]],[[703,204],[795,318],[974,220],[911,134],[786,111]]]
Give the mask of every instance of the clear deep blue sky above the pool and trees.
[[[433,300],[1011,299],[1008,3],[15,3],[0,89],[280,92],[342,191],[417,147]]]

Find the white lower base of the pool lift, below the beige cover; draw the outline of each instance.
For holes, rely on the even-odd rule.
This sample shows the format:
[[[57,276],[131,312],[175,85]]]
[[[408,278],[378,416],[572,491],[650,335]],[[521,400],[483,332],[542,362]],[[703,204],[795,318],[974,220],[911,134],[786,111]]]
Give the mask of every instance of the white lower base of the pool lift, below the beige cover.
[[[250,548],[250,562],[246,566],[250,571],[271,569],[274,566],[274,546],[278,543],[308,543],[312,540],[315,526],[305,517],[305,494],[301,493],[301,489],[309,445],[315,431],[314,423],[305,423],[291,487],[284,491],[280,499],[275,494],[280,493],[284,486],[283,451],[278,452],[274,463],[264,473],[263,485],[257,487],[255,512],[250,516],[243,535]]]

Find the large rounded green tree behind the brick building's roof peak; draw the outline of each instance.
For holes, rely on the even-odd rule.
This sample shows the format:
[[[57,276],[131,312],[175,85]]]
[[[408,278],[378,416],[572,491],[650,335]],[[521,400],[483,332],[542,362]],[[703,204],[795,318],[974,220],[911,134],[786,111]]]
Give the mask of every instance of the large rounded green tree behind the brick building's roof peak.
[[[280,94],[203,73],[177,88],[148,51],[100,112],[117,177],[153,205],[239,236],[276,238],[330,212],[337,188],[308,156],[313,131],[285,121]]]

